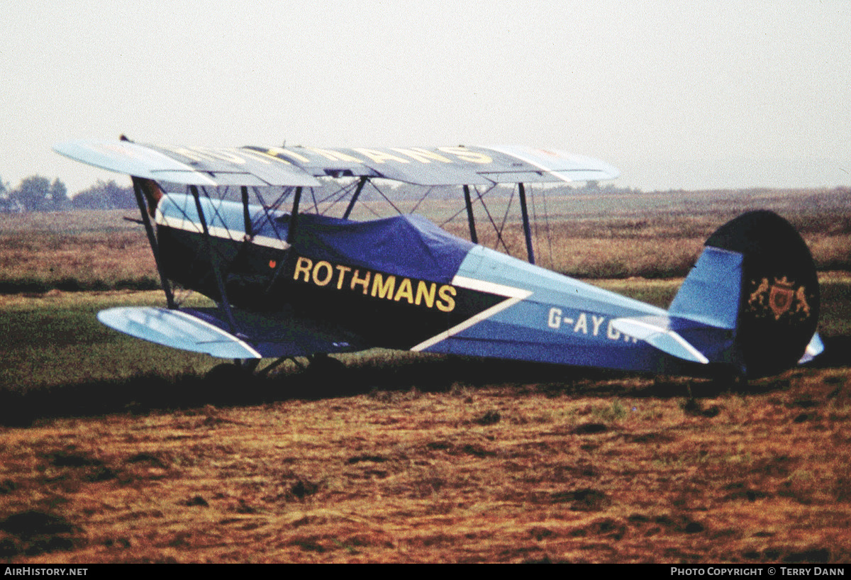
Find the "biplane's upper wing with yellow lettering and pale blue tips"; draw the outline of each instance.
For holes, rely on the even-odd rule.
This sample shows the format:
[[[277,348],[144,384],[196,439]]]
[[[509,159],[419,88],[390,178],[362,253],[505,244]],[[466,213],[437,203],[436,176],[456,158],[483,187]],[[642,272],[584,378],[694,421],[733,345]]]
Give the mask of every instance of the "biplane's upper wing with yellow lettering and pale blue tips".
[[[54,151],[95,167],[186,185],[319,186],[317,177],[374,177],[413,185],[491,185],[614,179],[608,163],[519,146],[320,149],[170,147],[78,140]]]

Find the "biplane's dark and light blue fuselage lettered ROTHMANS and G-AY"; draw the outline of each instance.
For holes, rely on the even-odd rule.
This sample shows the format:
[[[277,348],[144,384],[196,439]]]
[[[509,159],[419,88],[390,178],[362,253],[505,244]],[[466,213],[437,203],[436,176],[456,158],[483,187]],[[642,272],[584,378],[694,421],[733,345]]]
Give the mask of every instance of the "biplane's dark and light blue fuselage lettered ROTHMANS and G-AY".
[[[448,271],[420,267],[418,253],[425,256],[432,250],[415,247],[415,238],[408,247],[397,240],[390,247],[376,247],[388,242],[371,231],[357,237],[368,223],[323,221],[306,214],[289,243],[284,242],[289,216],[277,214],[274,225],[260,227],[250,239],[235,227],[242,220],[240,204],[219,202],[214,208],[207,203],[212,252],[206,250],[191,197],[168,196],[157,212],[161,260],[170,279],[218,301],[208,259],[214,256],[235,309],[300,316],[356,337],[352,343],[392,349],[657,372],[681,365],[612,324],[615,318],[664,315],[665,310],[443,230],[450,259],[443,256],[441,263],[457,262]],[[414,223],[404,216],[396,219]],[[430,228],[437,228],[424,221],[414,225],[426,233],[414,231],[431,236]],[[277,228],[274,236],[272,228]],[[335,228],[347,236],[338,246]],[[362,247],[352,247],[358,243]],[[406,260],[411,263],[401,264]]]

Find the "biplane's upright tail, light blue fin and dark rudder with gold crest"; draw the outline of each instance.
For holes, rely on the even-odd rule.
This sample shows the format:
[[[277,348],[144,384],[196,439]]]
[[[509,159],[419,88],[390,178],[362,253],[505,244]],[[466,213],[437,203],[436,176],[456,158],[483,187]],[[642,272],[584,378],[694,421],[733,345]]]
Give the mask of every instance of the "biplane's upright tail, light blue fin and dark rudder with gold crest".
[[[668,310],[672,328],[710,361],[751,377],[818,350],[819,280],[789,222],[768,211],[745,213],[705,246]]]

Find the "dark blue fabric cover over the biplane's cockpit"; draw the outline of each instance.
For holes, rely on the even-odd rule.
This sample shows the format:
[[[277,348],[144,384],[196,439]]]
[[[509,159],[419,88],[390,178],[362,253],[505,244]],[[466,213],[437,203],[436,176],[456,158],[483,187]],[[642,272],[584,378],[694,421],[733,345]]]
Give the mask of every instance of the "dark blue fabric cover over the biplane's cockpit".
[[[473,247],[413,214],[368,222],[300,214],[293,245],[312,259],[444,283]]]

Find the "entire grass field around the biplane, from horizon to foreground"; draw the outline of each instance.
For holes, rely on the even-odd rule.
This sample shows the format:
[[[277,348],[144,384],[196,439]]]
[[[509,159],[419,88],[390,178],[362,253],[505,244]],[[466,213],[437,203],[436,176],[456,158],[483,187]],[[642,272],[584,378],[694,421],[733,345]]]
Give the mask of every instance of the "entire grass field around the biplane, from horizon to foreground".
[[[648,196],[563,216],[551,256],[537,241],[541,262],[666,305],[737,203],[776,204],[824,270],[828,351],[746,385],[373,350],[333,379],[288,363],[222,389],[214,359],[94,319],[162,304],[139,226],[3,216],[0,560],[847,562],[834,193]]]

